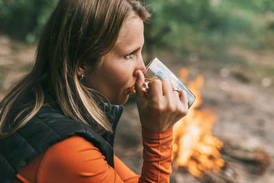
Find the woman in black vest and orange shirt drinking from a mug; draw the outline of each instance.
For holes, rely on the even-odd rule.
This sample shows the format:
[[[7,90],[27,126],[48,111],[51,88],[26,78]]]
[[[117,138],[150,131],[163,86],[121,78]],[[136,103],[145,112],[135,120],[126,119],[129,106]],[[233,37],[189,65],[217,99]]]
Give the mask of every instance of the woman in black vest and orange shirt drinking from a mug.
[[[169,182],[172,126],[188,105],[166,80],[150,82],[149,97],[142,91],[148,18],[137,0],[60,0],[34,68],[1,101],[2,182]],[[133,85],[144,146],[140,176],[112,148]]]

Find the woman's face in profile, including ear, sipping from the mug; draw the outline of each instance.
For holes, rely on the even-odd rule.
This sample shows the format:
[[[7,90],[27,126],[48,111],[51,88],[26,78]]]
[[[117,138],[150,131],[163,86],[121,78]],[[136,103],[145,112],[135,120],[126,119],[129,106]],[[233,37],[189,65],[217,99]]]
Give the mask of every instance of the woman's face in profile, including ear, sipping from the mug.
[[[144,25],[138,16],[125,20],[114,47],[101,58],[101,66],[92,72],[84,66],[84,81],[107,97],[112,104],[124,104],[136,82],[135,72],[146,72],[142,61]]]

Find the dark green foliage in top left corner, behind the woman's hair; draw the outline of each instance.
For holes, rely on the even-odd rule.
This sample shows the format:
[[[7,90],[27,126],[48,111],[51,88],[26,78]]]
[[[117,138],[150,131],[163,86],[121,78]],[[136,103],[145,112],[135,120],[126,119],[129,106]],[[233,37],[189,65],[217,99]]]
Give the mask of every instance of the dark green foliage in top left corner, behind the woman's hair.
[[[34,42],[57,0],[0,0],[0,30],[18,40]]]

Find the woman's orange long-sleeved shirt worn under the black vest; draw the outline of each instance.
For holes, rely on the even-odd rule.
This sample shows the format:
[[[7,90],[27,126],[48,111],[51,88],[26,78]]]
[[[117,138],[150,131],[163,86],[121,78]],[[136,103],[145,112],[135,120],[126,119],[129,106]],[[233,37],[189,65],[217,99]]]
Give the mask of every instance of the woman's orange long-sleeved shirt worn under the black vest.
[[[114,156],[115,169],[92,143],[80,136],[49,147],[18,171],[18,182],[169,182],[173,129],[142,128],[143,165],[136,175]]]

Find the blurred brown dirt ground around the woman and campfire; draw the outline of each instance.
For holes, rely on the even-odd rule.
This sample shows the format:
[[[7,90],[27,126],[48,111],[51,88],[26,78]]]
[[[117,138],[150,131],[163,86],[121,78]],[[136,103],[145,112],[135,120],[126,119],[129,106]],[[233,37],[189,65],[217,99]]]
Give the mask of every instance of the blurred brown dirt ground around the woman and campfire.
[[[35,47],[26,47],[0,36],[0,98],[32,66]],[[274,182],[274,53],[231,48],[227,51],[241,62],[227,57],[202,60],[199,56],[186,56],[178,61],[171,56],[158,56],[169,60],[174,73],[186,66],[190,80],[203,75],[205,82],[200,108],[214,108],[218,117],[212,132],[214,136],[250,149],[264,149],[271,156],[271,165],[263,175],[239,177],[237,182]],[[244,60],[244,62],[242,62]],[[116,131],[115,154],[136,173],[142,167],[142,145],[138,110],[134,97],[125,105]],[[201,182],[189,173],[173,172],[171,182]]]

